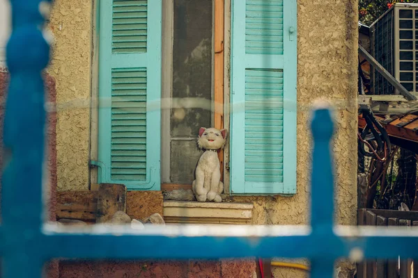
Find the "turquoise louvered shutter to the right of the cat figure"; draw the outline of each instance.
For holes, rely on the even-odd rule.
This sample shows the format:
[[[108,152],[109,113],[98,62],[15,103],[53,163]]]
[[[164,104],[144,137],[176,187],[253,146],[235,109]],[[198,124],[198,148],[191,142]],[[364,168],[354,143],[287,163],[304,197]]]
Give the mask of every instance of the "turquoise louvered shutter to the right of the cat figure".
[[[296,1],[233,0],[231,191],[296,192]]]

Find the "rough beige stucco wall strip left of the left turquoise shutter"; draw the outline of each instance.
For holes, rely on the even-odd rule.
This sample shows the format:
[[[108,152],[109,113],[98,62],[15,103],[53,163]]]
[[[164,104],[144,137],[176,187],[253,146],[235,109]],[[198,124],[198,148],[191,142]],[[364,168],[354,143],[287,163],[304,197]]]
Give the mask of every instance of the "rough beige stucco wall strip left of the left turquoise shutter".
[[[48,72],[56,80],[58,190],[88,189],[91,99],[92,1],[56,0],[49,28],[54,34]]]

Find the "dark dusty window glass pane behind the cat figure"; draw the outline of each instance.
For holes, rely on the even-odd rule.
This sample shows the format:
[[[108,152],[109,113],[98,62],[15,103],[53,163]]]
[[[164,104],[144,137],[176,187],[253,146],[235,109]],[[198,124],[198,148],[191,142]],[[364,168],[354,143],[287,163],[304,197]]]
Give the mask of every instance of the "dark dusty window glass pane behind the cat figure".
[[[212,125],[212,0],[174,0],[173,92],[175,99],[206,99],[206,108],[171,111],[171,170],[173,183],[191,184],[201,152],[196,136]]]

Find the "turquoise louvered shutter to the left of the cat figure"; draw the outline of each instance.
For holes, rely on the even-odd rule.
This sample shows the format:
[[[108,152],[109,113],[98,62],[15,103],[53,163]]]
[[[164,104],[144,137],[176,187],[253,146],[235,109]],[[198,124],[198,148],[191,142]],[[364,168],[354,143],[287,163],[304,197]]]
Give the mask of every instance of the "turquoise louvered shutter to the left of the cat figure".
[[[162,0],[100,1],[102,183],[160,190]]]

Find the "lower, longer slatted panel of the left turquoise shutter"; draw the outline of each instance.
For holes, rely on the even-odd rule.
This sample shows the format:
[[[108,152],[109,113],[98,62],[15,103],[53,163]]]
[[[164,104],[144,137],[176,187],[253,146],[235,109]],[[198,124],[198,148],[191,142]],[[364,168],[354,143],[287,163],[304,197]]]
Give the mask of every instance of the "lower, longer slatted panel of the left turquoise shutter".
[[[146,180],[146,69],[111,72],[111,179]]]

